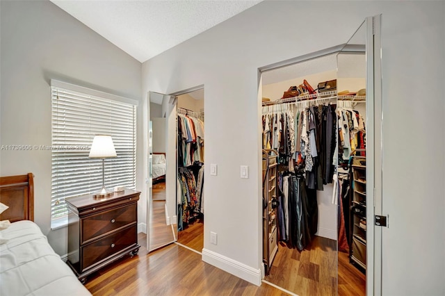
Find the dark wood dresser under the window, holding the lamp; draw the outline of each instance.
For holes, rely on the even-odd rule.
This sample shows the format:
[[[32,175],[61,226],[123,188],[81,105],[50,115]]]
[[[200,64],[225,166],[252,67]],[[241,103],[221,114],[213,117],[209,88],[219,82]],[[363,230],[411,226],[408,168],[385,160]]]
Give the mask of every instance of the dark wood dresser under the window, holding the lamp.
[[[82,283],[122,256],[138,254],[139,191],[110,197],[81,195],[65,199],[68,208],[68,260]]]

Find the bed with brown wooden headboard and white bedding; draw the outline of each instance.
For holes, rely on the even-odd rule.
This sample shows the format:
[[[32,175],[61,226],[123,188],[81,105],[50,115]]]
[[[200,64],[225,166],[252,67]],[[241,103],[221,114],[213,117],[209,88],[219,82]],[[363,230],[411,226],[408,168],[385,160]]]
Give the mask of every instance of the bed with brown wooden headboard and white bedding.
[[[0,295],[91,295],[33,220],[33,174],[0,177]]]

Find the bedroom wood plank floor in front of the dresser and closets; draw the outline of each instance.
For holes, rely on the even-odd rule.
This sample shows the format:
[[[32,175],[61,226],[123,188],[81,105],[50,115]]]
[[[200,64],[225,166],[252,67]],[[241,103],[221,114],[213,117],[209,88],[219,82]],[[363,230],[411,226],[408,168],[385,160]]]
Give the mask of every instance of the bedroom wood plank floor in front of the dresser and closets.
[[[200,254],[177,244],[147,254],[145,235],[141,248],[91,274],[86,288],[92,295],[287,295],[266,283],[255,286],[204,263]]]

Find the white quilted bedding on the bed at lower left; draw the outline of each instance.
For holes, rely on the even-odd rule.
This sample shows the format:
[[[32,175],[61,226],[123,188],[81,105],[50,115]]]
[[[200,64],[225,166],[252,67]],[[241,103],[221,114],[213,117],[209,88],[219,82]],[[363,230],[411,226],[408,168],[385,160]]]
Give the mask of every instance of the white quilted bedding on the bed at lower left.
[[[91,295],[37,224],[14,222],[1,235],[0,295]]]

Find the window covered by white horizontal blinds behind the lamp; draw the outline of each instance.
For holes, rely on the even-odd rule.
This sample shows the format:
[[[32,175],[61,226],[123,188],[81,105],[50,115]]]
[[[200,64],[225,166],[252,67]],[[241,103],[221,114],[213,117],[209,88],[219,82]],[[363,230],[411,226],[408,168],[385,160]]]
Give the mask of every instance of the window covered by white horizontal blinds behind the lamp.
[[[102,188],[102,159],[88,158],[95,135],[111,135],[105,187],[136,188],[137,101],[51,81],[51,228],[67,224],[65,199]]]

